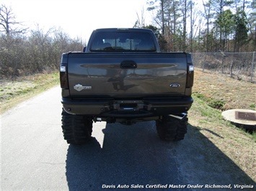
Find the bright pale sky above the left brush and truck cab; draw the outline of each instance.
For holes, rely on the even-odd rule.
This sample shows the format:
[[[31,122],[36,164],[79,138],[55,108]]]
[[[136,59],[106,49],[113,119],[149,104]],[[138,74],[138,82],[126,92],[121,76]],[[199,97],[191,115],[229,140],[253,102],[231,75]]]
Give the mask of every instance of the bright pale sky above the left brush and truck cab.
[[[17,22],[40,29],[61,27],[72,38],[88,42],[94,29],[133,27],[144,9],[146,24],[151,23],[146,0],[1,0],[12,7]]]

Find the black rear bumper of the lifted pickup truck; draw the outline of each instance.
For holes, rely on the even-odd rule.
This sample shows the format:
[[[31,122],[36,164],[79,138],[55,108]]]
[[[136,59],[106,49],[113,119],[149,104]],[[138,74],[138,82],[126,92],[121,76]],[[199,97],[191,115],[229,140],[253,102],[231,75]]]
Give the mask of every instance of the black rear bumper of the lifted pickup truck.
[[[139,100],[115,100],[113,98],[62,98],[67,113],[112,118],[141,118],[187,112],[192,97],[142,98]]]

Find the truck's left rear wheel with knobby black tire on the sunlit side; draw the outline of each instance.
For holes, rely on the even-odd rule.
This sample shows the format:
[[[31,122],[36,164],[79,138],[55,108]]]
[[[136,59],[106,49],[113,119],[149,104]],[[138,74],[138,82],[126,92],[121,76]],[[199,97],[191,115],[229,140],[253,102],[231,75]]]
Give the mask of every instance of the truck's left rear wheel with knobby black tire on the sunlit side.
[[[68,144],[85,144],[92,136],[92,117],[76,116],[62,111],[62,132]]]

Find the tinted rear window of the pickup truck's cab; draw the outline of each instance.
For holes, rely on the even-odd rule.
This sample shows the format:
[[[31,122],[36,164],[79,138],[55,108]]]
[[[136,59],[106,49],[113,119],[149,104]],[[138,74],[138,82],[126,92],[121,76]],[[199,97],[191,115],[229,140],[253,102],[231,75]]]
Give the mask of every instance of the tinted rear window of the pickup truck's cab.
[[[146,51],[154,52],[154,40],[151,34],[140,32],[99,32],[95,35],[91,51]]]

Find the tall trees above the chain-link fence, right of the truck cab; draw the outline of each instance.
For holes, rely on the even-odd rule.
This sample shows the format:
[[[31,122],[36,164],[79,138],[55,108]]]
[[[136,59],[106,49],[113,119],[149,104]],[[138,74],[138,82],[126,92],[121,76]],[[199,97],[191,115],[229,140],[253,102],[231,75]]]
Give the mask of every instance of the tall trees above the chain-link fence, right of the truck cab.
[[[203,4],[203,11],[199,9]],[[148,0],[135,27],[153,29],[164,51],[253,52],[256,50],[256,0]]]

